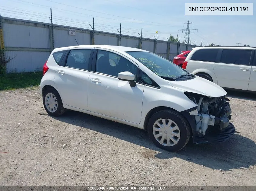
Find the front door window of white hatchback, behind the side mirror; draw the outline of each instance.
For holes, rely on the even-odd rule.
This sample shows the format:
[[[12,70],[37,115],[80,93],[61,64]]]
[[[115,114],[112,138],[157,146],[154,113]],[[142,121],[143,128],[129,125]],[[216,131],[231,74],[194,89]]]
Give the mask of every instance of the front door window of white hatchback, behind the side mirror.
[[[105,50],[97,51],[96,72],[118,77],[118,73],[126,71],[131,72],[136,77],[137,67],[115,53]]]

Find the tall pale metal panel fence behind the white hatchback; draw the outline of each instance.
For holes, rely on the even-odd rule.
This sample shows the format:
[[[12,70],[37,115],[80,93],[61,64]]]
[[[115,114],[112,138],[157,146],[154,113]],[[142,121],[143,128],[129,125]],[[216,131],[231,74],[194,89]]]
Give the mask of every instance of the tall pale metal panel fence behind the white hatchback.
[[[117,45],[141,48],[173,60],[174,56],[183,50],[191,50],[194,45],[174,43],[162,40],[133,37],[115,33],[93,31],[82,28],[52,25],[36,21],[27,21],[14,18],[1,18],[2,41],[5,55],[15,59],[7,64],[7,72],[34,72],[41,71],[54,48],[89,45]],[[68,30],[74,29],[73,34]],[[52,31],[53,30],[53,31]],[[52,35],[53,34],[53,35]],[[121,38],[121,40],[120,40]],[[77,42],[76,42],[77,40]]]

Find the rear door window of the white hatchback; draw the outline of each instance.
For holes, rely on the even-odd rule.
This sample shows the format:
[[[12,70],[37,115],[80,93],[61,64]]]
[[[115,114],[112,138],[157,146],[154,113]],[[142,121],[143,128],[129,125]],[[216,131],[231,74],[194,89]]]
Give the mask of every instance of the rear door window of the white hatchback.
[[[88,70],[91,49],[75,49],[68,54],[66,66]]]

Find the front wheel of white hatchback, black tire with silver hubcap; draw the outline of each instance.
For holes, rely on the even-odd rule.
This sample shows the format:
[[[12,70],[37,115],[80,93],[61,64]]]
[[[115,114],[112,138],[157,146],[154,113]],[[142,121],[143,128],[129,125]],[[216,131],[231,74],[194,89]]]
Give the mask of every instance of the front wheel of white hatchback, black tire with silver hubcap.
[[[163,128],[163,129],[158,128],[159,124],[156,125],[157,121],[162,126],[162,128],[163,128],[163,123],[161,123],[161,121],[162,122],[164,121],[165,124],[167,124],[166,128]],[[170,124],[169,128],[168,128],[168,124]],[[178,129],[177,129],[177,126],[178,126]],[[160,131],[155,131],[155,129]],[[157,132],[159,133],[157,134]],[[160,132],[162,132],[163,136],[159,135]],[[173,134],[177,136],[174,136]],[[177,111],[161,110],[153,114],[149,119],[148,135],[157,147],[165,149],[167,151],[176,152],[181,150],[187,145],[191,135],[191,128],[187,119],[185,119],[185,117],[182,116]],[[178,138],[178,135],[180,136],[179,138]],[[159,136],[159,137],[156,138],[155,136]],[[169,136],[171,136],[172,139],[168,138]],[[163,143],[160,143],[162,138],[165,140],[163,141]],[[169,139],[169,143],[168,143],[168,139]]]

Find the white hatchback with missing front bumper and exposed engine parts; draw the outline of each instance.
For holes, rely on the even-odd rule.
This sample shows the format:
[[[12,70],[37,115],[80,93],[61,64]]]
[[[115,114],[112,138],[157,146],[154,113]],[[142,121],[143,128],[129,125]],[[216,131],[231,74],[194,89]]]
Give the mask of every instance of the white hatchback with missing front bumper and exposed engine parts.
[[[75,110],[148,131],[159,148],[223,142],[234,134],[220,86],[157,54],[129,47],[56,48],[43,67],[45,110]]]

